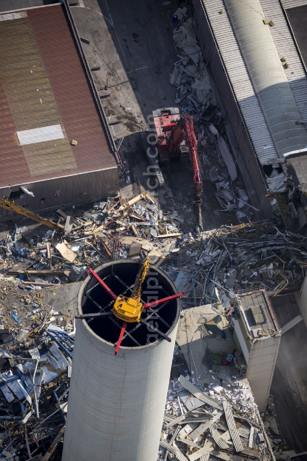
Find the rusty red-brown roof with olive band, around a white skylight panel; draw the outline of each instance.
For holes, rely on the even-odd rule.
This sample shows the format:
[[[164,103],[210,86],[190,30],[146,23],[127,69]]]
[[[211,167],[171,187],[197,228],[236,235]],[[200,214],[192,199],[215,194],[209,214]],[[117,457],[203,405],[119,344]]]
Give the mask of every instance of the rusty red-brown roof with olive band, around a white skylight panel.
[[[0,187],[116,167],[78,53],[61,5],[0,22]],[[63,139],[19,145],[58,124]]]

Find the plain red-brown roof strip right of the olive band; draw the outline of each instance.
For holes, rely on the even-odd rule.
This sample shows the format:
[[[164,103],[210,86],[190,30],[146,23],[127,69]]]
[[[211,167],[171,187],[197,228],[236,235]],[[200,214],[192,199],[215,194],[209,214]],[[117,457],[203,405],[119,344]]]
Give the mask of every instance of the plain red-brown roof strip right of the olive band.
[[[62,6],[28,15],[78,168],[115,166]],[[56,50],[56,53],[54,52]]]

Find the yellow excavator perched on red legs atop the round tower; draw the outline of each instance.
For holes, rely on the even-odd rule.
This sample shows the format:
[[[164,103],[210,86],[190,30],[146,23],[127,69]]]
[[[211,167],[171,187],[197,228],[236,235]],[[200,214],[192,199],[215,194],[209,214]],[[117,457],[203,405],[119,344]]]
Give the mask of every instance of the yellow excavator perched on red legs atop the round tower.
[[[149,258],[146,258],[141,266],[141,269],[136,277],[136,284],[132,295],[128,298],[127,296],[120,295],[114,302],[112,307],[112,313],[118,319],[124,322],[139,322],[141,314],[143,312],[143,303],[141,302],[141,288],[142,283],[147,276],[149,267]]]

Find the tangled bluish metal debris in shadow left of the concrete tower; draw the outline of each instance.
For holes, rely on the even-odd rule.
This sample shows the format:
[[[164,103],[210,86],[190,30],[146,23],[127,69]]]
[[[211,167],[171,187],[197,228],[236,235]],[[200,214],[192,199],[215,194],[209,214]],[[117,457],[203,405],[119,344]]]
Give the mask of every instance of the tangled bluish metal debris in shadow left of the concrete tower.
[[[17,337],[0,329],[1,459],[50,459],[64,434],[74,330],[46,319]]]

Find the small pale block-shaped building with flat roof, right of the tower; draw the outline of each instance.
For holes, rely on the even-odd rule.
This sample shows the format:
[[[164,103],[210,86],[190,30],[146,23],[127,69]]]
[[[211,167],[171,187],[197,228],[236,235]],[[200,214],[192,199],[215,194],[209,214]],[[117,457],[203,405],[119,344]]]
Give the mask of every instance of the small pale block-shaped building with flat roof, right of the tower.
[[[280,343],[280,328],[265,289],[242,292],[231,319],[246,376],[259,411],[265,411]]]

